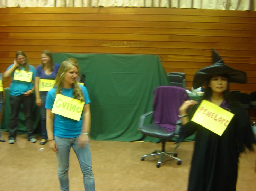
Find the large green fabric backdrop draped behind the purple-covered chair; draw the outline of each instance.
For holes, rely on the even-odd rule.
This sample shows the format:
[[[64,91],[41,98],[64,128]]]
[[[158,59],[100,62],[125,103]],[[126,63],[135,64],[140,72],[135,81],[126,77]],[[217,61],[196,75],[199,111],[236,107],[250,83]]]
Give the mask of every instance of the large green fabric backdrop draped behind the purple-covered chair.
[[[168,85],[157,55],[53,53],[55,63],[76,58],[91,99],[91,139],[157,142],[143,137],[139,118],[152,110],[153,91]]]

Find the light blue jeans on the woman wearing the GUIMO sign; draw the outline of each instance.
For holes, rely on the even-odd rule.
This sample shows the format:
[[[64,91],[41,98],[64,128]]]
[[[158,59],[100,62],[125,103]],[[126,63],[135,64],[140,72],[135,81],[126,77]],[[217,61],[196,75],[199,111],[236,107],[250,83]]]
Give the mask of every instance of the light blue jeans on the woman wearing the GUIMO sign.
[[[91,151],[89,144],[86,147],[79,147],[77,138],[61,138],[54,136],[56,144],[58,146],[58,152],[56,153],[58,162],[58,177],[60,181],[61,191],[69,190],[69,153],[70,148],[73,147],[74,152],[77,155],[81,171],[83,173],[83,184],[86,191],[95,191],[94,175],[92,173],[91,166]]]

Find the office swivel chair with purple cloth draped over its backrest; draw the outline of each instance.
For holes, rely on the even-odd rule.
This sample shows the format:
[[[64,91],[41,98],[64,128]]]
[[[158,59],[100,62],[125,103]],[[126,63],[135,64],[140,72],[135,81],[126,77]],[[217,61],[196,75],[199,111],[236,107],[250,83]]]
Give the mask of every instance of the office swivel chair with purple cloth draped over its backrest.
[[[179,107],[184,101],[189,100],[189,96],[184,88],[175,86],[159,86],[154,91],[153,110],[141,115],[139,122],[139,130],[142,134],[159,138],[162,143],[161,151],[154,151],[152,154],[143,155],[145,157],[159,155],[157,167],[160,167],[162,157],[168,157],[178,160],[180,165],[182,160],[177,158],[177,152],[165,152],[165,142],[171,140],[175,135],[179,134],[176,128],[176,122],[179,120]],[[153,114],[153,124],[145,125],[145,118]]]

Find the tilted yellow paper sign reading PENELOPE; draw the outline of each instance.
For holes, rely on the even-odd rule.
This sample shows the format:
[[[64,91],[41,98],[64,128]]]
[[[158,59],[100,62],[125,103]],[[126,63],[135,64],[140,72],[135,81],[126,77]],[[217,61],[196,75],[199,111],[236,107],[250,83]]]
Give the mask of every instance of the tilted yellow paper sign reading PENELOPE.
[[[203,100],[191,121],[194,121],[221,136],[233,116],[233,113],[230,113],[210,101]]]

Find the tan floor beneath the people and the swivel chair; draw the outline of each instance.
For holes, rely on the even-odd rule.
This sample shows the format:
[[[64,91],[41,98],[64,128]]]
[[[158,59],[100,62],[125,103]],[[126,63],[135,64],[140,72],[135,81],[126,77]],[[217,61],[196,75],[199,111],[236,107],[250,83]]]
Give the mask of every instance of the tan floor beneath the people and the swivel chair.
[[[8,134],[2,132],[2,137],[7,140]],[[174,148],[171,142],[166,146],[170,151]],[[160,149],[160,144],[90,141],[90,147],[96,191],[187,190],[193,142],[178,148],[182,165],[165,160],[160,168],[156,168],[157,160],[140,161],[143,154]],[[255,159],[256,151],[241,154],[237,191],[256,190]],[[70,164],[70,191],[82,191],[82,173],[73,150]],[[59,190],[55,154],[48,144],[30,143],[25,135],[18,135],[15,144],[0,142],[0,172],[1,191]]]

